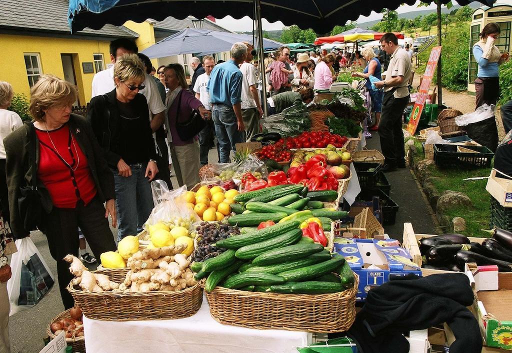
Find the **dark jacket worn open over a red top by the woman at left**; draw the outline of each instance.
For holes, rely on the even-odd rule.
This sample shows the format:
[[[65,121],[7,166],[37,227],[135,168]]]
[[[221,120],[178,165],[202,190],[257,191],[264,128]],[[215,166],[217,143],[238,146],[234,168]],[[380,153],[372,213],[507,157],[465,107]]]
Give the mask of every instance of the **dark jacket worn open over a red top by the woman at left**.
[[[99,147],[91,125],[81,115],[71,114],[69,119],[71,133],[75,137],[78,146],[86,155],[91,170],[91,175],[96,185],[97,196],[102,202],[115,198],[114,176],[110,170],[103,152]],[[36,176],[37,171],[32,168],[33,160],[30,157],[31,149],[35,149],[36,163],[39,164],[39,140],[37,135],[33,140],[32,123],[25,123],[7,135],[4,139],[6,158],[6,176],[9,189],[9,210],[11,212],[11,230],[16,239],[24,238],[30,234],[23,225],[23,219],[18,210],[18,199],[20,197],[19,188],[30,185],[32,178]],[[40,192],[41,203],[52,206],[52,201],[44,184],[37,180],[37,185],[42,189]],[[48,207],[47,207],[48,208]],[[48,209],[46,210],[49,211]]]

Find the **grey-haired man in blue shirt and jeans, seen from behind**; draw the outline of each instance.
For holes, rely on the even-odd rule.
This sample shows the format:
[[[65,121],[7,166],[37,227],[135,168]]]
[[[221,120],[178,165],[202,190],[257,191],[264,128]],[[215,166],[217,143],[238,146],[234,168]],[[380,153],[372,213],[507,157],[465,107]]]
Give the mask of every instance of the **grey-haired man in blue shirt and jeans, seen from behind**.
[[[243,75],[238,67],[246,55],[245,44],[233,44],[231,59],[215,66],[206,87],[212,106],[211,118],[220,145],[221,163],[229,163],[229,154],[235,150],[235,144],[245,141],[241,108]]]

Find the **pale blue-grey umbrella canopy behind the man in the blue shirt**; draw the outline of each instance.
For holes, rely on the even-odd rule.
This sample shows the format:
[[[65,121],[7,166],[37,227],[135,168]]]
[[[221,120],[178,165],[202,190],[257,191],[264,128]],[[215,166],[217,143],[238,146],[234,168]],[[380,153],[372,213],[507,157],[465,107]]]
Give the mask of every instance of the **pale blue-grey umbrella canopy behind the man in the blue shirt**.
[[[150,58],[166,57],[180,54],[200,53],[206,55],[229,51],[237,41],[252,41],[248,34],[237,34],[204,29],[185,28],[160,40],[158,43],[144,49],[141,53]],[[263,38],[265,49],[277,49],[284,44],[275,40]]]

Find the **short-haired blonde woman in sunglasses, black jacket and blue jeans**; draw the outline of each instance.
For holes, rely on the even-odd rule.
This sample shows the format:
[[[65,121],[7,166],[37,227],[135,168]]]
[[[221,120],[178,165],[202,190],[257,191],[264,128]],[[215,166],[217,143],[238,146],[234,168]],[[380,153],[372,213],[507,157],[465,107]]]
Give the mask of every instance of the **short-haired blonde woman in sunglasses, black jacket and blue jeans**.
[[[91,99],[87,117],[114,173],[118,241],[142,231],[153,210],[150,182],[158,173],[144,89],[144,65],[125,54],[114,65],[116,88]]]

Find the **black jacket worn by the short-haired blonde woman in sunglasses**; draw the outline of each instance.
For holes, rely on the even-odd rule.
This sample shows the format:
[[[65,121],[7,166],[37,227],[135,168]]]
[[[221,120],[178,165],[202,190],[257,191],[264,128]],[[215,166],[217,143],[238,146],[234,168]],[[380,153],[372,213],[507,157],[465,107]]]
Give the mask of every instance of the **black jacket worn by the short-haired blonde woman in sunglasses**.
[[[134,98],[141,119],[140,121],[140,139],[138,142],[143,146],[146,154],[146,161],[156,159],[155,143],[150,125],[149,110],[147,108],[146,97],[138,93]],[[116,90],[96,96],[91,99],[87,110],[87,118],[91,122],[101,148],[103,149],[106,161],[111,168],[117,168],[117,162],[122,158],[118,153],[114,152],[123,136],[119,129],[119,110],[117,108]]]

